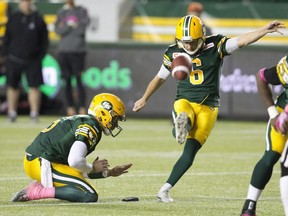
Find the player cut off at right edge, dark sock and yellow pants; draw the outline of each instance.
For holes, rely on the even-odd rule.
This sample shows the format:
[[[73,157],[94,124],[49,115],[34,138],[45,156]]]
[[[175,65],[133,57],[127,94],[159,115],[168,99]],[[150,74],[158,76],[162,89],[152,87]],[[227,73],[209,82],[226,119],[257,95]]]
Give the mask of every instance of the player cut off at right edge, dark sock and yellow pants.
[[[285,133],[285,125],[283,124],[283,115],[285,115],[285,113],[280,115],[279,120],[276,123],[279,113],[283,111],[285,105],[288,103],[287,76],[287,55],[284,56],[277,65],[271,68],[262,68],[256,76],[258,92],[267,107],[270,119],[268,121],[266,130],[265,152],[262,158],[257,162],[254,167],[250,180],[250,185],[248,188],[247,198],[242,209],[242,216],[256,215],[257,201],[272,176],[273,167],[275,163],[279,160],[288,138],[287,133]],[[274,102],[270,85],[283,85],[283,87],[285,88],[285,91],[283,91],[277,97],[276,102]],[[280,188],[283,206],[285,208],[286,205],[285,212],[286,215],[288,215],[288,169],[287,162],[285,162],[286,159],[287,155],[284,154],[283,159],[281,160],[282,172],[280,179]]]

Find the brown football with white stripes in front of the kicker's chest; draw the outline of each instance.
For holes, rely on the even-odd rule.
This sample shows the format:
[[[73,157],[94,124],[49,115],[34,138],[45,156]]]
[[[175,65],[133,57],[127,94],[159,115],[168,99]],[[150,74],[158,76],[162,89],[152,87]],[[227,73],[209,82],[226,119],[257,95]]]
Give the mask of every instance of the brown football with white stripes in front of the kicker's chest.
[[[171,73],[176,80],[186,79],[192,70],[192,59],[186,53],[178,54],[172,61]]]

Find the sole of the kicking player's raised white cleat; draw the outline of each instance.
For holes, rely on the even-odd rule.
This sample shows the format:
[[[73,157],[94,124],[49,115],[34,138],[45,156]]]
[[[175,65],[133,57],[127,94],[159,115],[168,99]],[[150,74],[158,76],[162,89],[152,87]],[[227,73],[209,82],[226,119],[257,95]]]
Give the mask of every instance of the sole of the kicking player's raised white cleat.
[[[188,116],[185,112],[181,112],[175,119],[175,137],[179,144],[186,142],[186,137],[188,135],[187,121]]]

